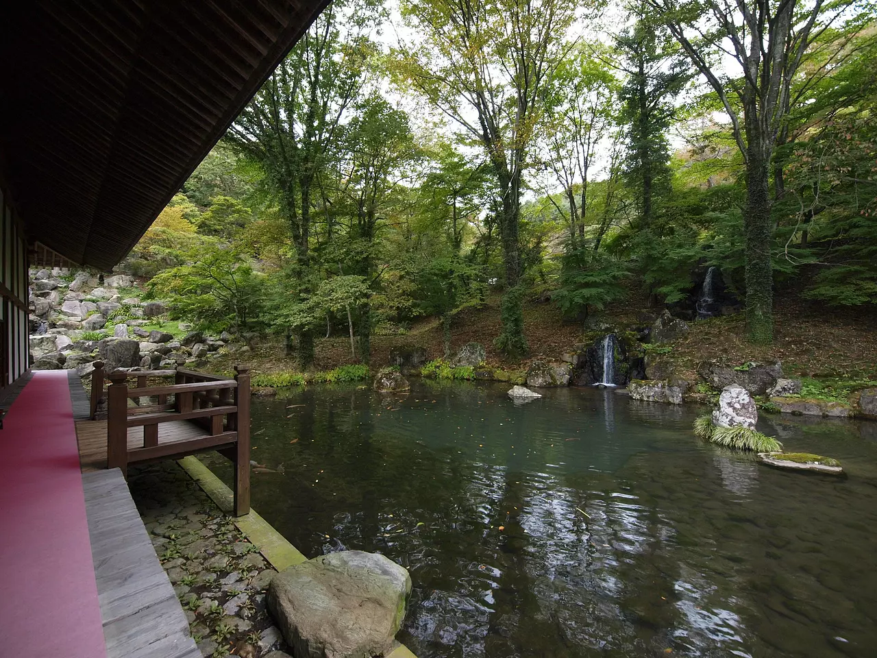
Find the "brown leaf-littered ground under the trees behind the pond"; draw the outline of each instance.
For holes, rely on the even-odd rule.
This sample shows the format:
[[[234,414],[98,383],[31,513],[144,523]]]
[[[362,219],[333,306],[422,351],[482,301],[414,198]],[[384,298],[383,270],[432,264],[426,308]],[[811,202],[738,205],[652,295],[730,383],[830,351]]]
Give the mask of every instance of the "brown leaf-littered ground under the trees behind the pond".
[[[553,304],[531,301],[524,304],[524,333],[530,354],[522,361],[510,361],[497,352],[493,340],[500,330],[500,297],[489,297],[481,308],[467,309],[454,318],[452,352],[469,341],[483,345],[488,366],[520,369],[528,361],[556,361],[576,343],[594,333],[584,331],[581,322],[568,322]],[[643,326],[644,315],[660,309],[649,308],[645,298],[631,296],[601,314],[601,319],[619,329]],[[786,375],[816,378],[877,378],[877,312],[837,310],[802,301],[796,297],[778,299],[774,307],[775,340],[770,346],[752,346],[745,341],[743,313],[689,322],[688,335],[673,344],[669,356],[677,362],[680,374],[696,381],[695,368],[713,359],[736,366],[748,361],[781,361]],[[438,318],[424,318],[403,335],[372,337],[373,369],[389,362],[392,347],[424,347],[430,359],[444,355],[444,340]],[[255,372],[275,373],[296,370],[295,355],[284,354],[279,338],[256,341],[248,357]],[[345,335],[317,340],[315,367],[328,370],[356,362],[350,340]]]

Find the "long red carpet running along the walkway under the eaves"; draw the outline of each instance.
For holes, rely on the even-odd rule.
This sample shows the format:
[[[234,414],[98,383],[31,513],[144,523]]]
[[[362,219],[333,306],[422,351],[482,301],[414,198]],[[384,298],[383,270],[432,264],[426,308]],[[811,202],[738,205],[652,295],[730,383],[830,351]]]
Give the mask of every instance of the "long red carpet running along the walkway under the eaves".
[[[0,655],[106,656],[66,371],[42,371],[0,430]]]

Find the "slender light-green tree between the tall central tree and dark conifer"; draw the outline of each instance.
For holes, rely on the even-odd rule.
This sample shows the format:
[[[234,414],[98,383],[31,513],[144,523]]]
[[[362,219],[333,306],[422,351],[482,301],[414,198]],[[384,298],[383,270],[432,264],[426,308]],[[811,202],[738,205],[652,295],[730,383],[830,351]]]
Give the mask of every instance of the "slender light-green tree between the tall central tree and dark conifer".
[[[618,82],[610,66],[592,54],[599,46],[579,44],[545,84],[542,154],[566,197],[566,208],[548,199],[565,218],[570,238],[585,237],[588,219],[588,176],[597,146],[615,121]]]

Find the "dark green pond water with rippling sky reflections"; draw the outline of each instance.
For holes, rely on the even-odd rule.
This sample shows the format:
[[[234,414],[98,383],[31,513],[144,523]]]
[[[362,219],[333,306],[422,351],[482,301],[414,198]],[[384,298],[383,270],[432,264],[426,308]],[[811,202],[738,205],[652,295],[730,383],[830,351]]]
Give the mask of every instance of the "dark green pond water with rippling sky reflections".
[[[253,400],[253,508],[309,557],[386,554],[429,656],[877,655],[877,423],[764,416],[847,479],[704,444],[612,390],[416,381]],[[226,483],[231,468],[208,462]]]

